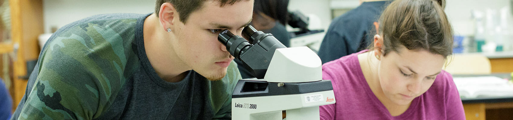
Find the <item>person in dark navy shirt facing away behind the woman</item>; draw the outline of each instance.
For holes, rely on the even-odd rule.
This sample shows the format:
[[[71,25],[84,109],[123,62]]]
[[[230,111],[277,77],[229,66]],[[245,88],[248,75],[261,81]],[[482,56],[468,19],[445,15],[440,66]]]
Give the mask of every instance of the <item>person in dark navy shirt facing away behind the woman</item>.
[[[319,48],[326,63],[364,50],[372,42],[374,22],[390,3],[384,0],[360,0],[357,8],[333,19]]]

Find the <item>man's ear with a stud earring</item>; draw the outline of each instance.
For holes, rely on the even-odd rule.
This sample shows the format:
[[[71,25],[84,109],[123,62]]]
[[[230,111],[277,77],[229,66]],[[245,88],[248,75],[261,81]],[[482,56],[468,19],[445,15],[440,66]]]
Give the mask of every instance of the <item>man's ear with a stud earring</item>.
[[[161,9],[159,12],[159,20],[161,22],[162,27],[164,27],[162,30],[166,32],[168,28],[174,30],[173,25],[176,22],[176,20],[179,19],[180,18],[178,17],[178,13],[176,12],[176,9],[174,9],[174,6],[171,3],[164,3],[161,5]]]

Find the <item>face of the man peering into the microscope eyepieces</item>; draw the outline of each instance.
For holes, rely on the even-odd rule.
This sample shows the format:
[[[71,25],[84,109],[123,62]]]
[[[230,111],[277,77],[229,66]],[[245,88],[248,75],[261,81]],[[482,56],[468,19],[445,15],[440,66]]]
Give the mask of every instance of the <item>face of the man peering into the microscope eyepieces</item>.
[[[233,56],[218,41],[218,34],[228,29],[241,36],[242,29],[251,21],[253,0],[235,2],[220,7],[218,1],[206,1],[203,8],[189,15],[186,24],[175,15],[171,46],[184,67],[192,68],[209,80],[220,80]]]

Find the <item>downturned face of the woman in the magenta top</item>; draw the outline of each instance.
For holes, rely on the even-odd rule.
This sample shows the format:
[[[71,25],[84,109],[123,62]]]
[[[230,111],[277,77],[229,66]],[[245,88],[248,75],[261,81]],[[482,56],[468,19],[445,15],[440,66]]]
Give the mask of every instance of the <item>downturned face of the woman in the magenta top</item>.
[[[378,77],[385,96],[398,105],[408,105],[427,91],[442,70],[445,58],[426,50],[406,47],[381,56]]]

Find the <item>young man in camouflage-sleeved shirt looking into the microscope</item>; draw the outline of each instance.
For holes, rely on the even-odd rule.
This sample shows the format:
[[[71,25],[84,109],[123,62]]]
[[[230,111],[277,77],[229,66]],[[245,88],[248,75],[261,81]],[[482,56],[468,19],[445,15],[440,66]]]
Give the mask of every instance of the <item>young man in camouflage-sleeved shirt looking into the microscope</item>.
[[[158,0],[58,30],[13,119],[230,119],[240,79],[222,29],[241,35],[253,0]]]

